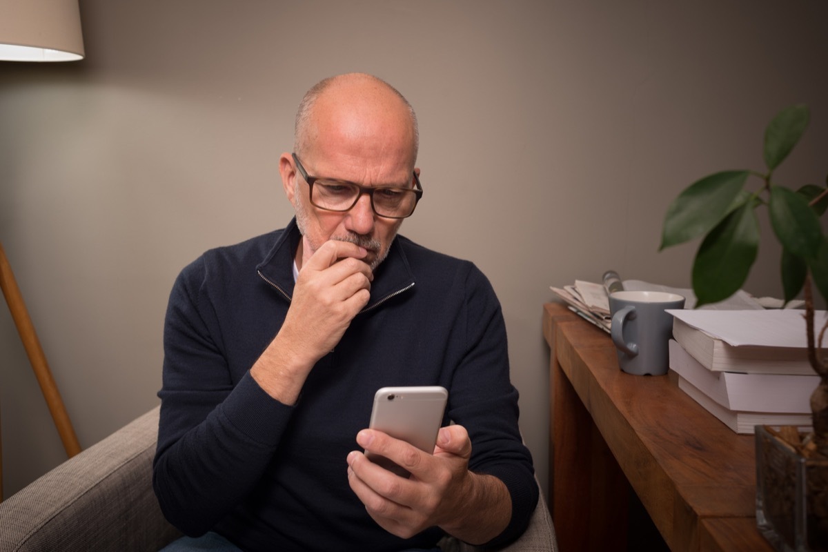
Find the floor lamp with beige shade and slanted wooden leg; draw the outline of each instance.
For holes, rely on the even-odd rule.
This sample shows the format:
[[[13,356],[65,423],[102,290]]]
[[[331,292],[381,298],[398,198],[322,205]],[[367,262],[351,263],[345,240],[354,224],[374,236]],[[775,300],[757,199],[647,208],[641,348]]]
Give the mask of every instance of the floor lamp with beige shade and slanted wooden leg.
[[[78,0],[0,0],[0,61],[74,61],[84,58]],[[70,457],[80,452],[78,438],[51,375],[12,266],[0,243],[0,288],[26,348],[60,440]],[[2,501],[2,444],[0,444]]]

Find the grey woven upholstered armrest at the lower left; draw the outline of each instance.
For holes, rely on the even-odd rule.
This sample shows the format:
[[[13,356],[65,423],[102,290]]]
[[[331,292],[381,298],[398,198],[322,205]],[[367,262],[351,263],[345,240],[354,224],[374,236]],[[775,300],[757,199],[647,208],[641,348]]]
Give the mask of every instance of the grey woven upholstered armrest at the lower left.
[[[178,532],[152,491],[158,407],[0,503],[0,552],[158,550]]]

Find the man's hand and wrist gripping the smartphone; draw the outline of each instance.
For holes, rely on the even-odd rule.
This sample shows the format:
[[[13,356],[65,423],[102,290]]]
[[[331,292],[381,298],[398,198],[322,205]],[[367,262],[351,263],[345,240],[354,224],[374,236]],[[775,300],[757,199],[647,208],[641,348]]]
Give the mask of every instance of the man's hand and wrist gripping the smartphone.
[[[508,489],[498,478],[469,472],[471,441],[464,427],[441,428],[433,455],[377,430],[360,431],[357,443],[411,473],[401,478],[363,453],[348,455],[351,489],[368,515],[388,532],[409,538],[440,526],[460,540],[483,544],[508,525]]]

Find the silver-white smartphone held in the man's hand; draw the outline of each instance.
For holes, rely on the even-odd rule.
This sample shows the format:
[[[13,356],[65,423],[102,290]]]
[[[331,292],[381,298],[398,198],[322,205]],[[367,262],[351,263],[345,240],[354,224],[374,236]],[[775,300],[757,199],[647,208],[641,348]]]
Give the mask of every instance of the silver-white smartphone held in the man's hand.
[[[373,397],[373,410],[368,425],[394,439],[413,444],[426,453],[434,452],[434,444],[443,420],[449,391],[441,386],[383,387]],[[407,478],[410,473],[378,454],[366,454],[393,473]]]

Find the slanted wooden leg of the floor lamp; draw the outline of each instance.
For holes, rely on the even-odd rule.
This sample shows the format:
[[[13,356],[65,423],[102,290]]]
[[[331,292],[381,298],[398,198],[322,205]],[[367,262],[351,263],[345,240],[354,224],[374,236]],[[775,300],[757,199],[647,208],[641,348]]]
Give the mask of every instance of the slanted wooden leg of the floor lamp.
[[[23,297],[20,295],[17,281],[14,279],[12,266],[8,263],[6,252],[2,248],[2,242],[0,242],[0,288],[2,288],[2,294],[6,297],[8,310],[12,312],[12,319],[14,319],[14,324],[17,326],[17,333],[20,334],[23,347],[26,348],[26,355],[29,357],[31,369],[35,372],[37,382],[41,386],[41,391],[43,391],[46,406],[49,406],[52,420],[55,420],[55,427],[58,434],[60,434],[60,440],[63,441],[66,454],[71,458],[80,452],[80,444],[75,436],[75,430],[72,428],[69,414],[66,413],[63,399],[60,398],[60,391],[58,391],[55,384],[55,378],[52,377],[49,363],[46,362],[46,355],[43,353],[40,340],[37,338],[35,327],[31,324],[31,318],[26,310]],[[0,457],[0,501],[2,501],[2,457]]]

